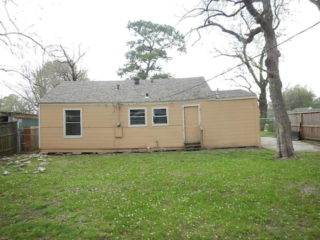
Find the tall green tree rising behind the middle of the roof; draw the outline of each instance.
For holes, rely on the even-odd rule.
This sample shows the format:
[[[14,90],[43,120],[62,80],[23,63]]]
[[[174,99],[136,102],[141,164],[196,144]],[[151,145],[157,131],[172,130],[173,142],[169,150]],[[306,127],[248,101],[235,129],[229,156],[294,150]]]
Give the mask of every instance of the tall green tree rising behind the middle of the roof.
[[[170,76],[162,72],[161,66],[156,63],[171,59],[167,55],[168,49],[176,48],[177,51],[185,52],[184,36],[172,26],[143,20],[129,21],[127,28],[133,31],[136,39],[126,43],[130,47],[125,53],[127,62],[118,69],[117,74],[120,77],[125,75],[127,79],[133,76],[146,79],[150,72],[161,73],[154,74],[152,78]]]

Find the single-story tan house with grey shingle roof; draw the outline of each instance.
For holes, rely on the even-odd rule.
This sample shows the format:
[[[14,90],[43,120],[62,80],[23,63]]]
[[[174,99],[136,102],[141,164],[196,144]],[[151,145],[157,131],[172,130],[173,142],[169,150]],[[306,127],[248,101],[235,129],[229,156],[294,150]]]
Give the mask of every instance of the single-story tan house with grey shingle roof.
[[[38,105],[41,152],[260,146],[256,95],[203,77],[66,81]]]

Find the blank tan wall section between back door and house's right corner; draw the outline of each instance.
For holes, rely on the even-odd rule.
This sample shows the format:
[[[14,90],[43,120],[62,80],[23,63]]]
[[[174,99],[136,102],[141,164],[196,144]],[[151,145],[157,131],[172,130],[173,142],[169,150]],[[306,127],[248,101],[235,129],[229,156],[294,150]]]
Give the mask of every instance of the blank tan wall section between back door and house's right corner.
[[[201,105],[205,148],[261,146],[257,99],[207,101]]]

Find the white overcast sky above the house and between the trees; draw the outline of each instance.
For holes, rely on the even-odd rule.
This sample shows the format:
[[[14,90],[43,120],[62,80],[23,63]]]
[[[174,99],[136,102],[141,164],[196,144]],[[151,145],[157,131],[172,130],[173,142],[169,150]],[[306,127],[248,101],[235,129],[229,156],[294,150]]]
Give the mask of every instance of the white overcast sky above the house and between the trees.
[[[88,69],[88,76],[93,80],[120,80],[117,69],[125,63],[124,54],[128,50],[125,42],[131,40],[126,28],[128,20],[150,20],[154,23],[170,24],[180,32],[189,30],[188,22],[178,23],[184,12],[183,7],[190,9],[197,1],[185,0],[15,0],[18,9],[13,9],[19,29],[30,29],[45,44],[62,44],[72,48],[81,43],[86,54],[82,67]],[[285,21],[286,35],[278,42],[311,26],[320,20],[320,12],[308,0],[292,1],[298,10],[292,19]],[[10,9],[9,9],[10,10]],[[284,23],[283,23],[284,24]],[[212,32],[202,35],[202,39],[193,46],[193,40],[187,44],[187,53],[169,52],[173,59],[163,64],[163,70],[174,77],[213,76],[235,66],[230,58],[213,58],[213,39],[223,41]],[[283,86],[295,84],[307,85],[320,96],[320,77],[318,73],[320,45],[320,24],[294,37],[281,45],[280,75]],[[225,39],[224,39],[225,41]],[[5,51],[2,51],[5,52]],[[17,60],[7,54],[0,55],[0,64],[18,67],[24,60],[35,61],[32,56]],[[14,82],[16,76],[9,77],[3,72],[1,79]],[[234,88],[219,77],[209,81],[212,89]],[[0,96],[10,93],[1,83]]]

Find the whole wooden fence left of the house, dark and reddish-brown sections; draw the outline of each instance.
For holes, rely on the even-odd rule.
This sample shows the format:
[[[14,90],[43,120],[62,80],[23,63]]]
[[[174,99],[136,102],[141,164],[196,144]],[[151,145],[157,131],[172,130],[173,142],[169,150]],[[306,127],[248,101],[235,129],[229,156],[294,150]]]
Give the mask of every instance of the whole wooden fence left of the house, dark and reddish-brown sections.
[[[0,122],[0,157],[39,148],[37,126],[18,128],[17,122]]]

